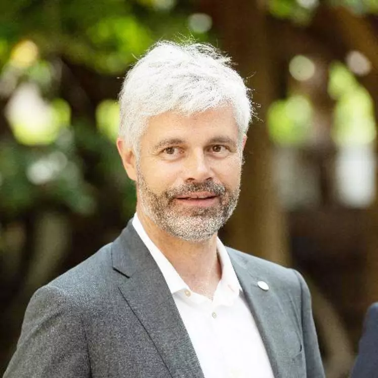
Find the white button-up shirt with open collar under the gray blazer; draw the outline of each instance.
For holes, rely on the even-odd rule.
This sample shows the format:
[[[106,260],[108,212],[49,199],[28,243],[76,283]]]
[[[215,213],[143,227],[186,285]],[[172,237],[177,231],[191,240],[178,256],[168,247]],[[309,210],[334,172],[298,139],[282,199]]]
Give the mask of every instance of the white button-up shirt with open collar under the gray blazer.
[[[259,330],[223,243],[217,239],[222,277],[212,301],[189,288],[148,237],[137,214],[133,226],[164,276],[205,378],[274,378]]]

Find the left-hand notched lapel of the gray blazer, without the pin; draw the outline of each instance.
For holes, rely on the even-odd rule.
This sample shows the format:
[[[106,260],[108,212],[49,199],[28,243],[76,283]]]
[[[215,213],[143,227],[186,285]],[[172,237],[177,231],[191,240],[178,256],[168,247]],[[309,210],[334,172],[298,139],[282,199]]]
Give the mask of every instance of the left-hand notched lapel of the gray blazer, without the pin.
[[[154,259],[129,222],[112,247],[119,289],[173,378],[204,378],[189,334]]]

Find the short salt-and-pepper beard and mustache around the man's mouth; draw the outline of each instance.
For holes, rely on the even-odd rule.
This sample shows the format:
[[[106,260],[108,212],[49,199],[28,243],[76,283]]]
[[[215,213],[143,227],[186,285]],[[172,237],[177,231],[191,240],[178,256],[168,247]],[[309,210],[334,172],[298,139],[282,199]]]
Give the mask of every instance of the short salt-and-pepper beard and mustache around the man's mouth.
[[[239,198],[240,182],[231,190],[214,181],[188,183],[154,193],[138,172],[138,195],[143,212],[162,230],[183,240],[200,242],[211,238],[231,217]],[[183,206],[177,197],[195,192],[217,196],[213,206]]]

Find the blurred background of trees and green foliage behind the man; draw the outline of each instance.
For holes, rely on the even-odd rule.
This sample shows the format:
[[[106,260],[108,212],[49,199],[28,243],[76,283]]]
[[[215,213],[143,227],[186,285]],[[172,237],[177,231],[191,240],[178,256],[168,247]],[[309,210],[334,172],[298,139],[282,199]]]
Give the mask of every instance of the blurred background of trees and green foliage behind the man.
[[[327,377],[348,376],[378,301],[378,0],[2,0],[0,373],[32,293],[134,214],[122,78],[156,40],[188,37],[253,89],[222,237],[305,275]]]

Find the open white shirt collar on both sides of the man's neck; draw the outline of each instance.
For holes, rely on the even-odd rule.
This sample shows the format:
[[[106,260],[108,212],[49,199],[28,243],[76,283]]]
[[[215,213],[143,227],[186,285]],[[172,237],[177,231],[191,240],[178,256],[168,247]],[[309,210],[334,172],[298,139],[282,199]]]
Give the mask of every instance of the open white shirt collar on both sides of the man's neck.
[[[135,228],[138,235],[140,236],[140,238],[146,245],[147,249],[150,251],[151,256],[155,260],[162,275],[164,276],[165,282],[168,285],[171,293],[174,294],[183,289],[190,290],[189,286],[180,277],[179,273],[177,273],[174,266],[170,263],[170,261],[163,255],[161,250],[149,238],[149,236],[147,235],[146,231],[143,228],[141,221],[139,220],[137,213],[135,213],[134,215],[133,227]],[[231,289],[234,295],[238,296],[239,291],[241,291],[242,289],[237,279],[234,268],[232,267],[231,260],[230,260],[230,257],[228,256],[226,247],[223,245],[223,243],[221,242],[219,238],[217,238],[217,251],[218,251],[218,257],[219,257],[221,267],[222,267],[222,278],[220,281],[220,285],[223,286],[224,288]]]

